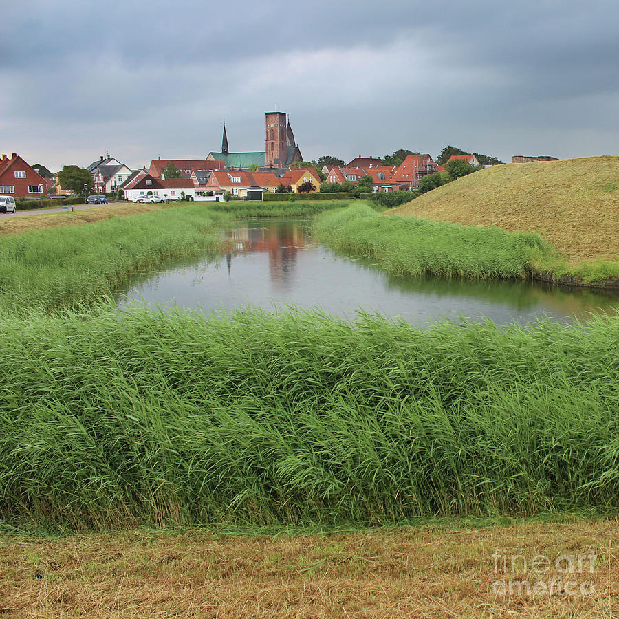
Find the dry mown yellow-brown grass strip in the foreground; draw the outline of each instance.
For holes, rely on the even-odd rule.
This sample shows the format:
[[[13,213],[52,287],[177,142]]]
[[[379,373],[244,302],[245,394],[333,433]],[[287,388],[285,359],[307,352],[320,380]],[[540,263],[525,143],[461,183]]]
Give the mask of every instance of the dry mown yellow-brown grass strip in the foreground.
[[[619,523],[406,528],[324,536],[132,532],[0,539],[0,617],[615,617]],[[575,595],[497,596],[492,554],[596,552]],[[618,553],[619,555],[619,553]],[[518,559],[521,562],[521,559]],[[517,563],[522,565],[522,563]],[[508,568],[508,571],[510,567]],[[594,583],[582,594],[580,585]],[[517,587],[516,587],[517,589]],[[523,589],[524,591],[525,589]]]

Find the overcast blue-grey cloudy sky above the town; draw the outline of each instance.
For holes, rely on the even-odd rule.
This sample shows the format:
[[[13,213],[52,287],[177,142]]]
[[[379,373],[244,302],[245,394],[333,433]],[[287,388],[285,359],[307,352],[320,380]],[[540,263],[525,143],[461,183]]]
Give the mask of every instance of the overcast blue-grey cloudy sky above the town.
[[[0,0],[0,151],[52,171],[109,152],[305,159],[444,146],[619,153],[616,0]]]

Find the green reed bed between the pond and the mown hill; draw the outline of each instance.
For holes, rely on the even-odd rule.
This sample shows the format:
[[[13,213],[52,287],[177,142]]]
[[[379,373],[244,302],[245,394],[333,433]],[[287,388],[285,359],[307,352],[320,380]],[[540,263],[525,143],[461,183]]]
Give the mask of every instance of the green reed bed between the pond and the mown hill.
[[[550,246],[529,232],[381,215],[351,206],[316,217],[318,239],[378,261],[391,274],[527,278]]]

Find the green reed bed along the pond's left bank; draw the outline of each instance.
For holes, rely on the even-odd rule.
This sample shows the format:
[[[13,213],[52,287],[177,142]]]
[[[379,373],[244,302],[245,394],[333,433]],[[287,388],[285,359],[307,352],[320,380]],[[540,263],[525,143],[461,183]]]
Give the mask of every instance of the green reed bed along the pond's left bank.
[[[230,221],[191,205],[7,235],[0,243],[0,308],[97,301],[169,259],[219,252]]]

